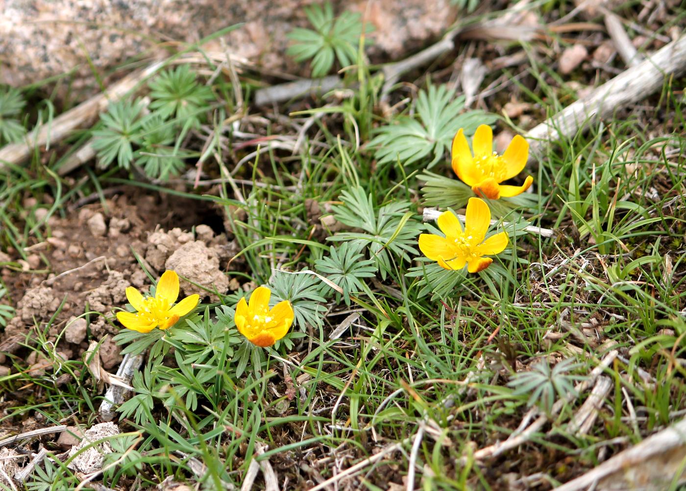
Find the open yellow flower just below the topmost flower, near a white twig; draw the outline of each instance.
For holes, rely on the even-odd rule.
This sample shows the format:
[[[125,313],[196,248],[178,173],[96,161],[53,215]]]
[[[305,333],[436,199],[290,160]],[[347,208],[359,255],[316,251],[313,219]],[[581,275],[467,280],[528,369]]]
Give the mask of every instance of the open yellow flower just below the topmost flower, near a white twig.
[[[470,273],[480,272],[493,263],[493,259],[483,256],[503,252],[508,245],[506,232],[500,232],[484,240],[489,225],[488,205],[478,197],[471,197],[464,217],[464,230],[454,213],[441,213],[438,217],[438,228],[445,237],[421,234],[419,249],[432,261],[438,261],[446,270],[461,270],[466,263]]]

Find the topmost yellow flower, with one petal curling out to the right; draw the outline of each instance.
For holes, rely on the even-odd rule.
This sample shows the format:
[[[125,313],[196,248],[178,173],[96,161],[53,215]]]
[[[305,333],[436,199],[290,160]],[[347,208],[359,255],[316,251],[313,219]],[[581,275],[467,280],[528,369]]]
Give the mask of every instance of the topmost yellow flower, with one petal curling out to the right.
[[[523,171],[529,158],[529,144],[521,136],[514,136],[505,153],[493,152],[493,131],[482,124],[476,129],[472,139],[474,155],[464,137],[462,128],[453,139],[453,171],[477,195],[497,200],[499,197],[512,197],[523,193],[534,182],[528,176],[521,186],[499,184],[517,176]]]

